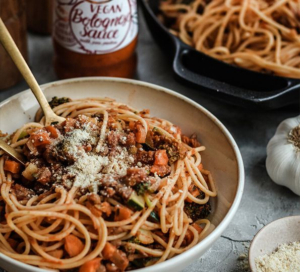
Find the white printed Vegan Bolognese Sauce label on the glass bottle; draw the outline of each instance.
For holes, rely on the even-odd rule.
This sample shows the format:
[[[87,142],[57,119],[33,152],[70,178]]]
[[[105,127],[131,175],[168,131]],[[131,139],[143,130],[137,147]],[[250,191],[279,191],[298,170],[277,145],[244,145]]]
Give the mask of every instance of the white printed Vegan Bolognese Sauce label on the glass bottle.
[[[136,0],[56,0],[53,38],[84,54],[107,54],[138,34]]]

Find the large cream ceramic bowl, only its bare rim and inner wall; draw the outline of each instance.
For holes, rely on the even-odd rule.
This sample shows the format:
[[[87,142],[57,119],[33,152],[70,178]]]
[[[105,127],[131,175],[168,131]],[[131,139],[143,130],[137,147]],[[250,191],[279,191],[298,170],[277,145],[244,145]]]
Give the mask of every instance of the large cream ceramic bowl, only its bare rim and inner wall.
[[[214,177],[218,196],[211,202],[211,233],[190,250],[162,263],[136,271],[180,271],[200,258],[222,234],[233,218],[244,188],[244,166],[241,153],[225,126],[208,110],[191,99],[166,88],[128,79],[77,78],[41,86],[48,100],[53,96],[71,98],[111,97],[137,109],[150,109],[152,116],[179,125],[187,135],[196,132],[206,146],[202,154],[205,167]],[[13,132],[34,119],[38,103],[30,90],[21,92],[0,104],[0,129]],[[46,271],[16,261],[0,253],[0,266],[10,272]]]

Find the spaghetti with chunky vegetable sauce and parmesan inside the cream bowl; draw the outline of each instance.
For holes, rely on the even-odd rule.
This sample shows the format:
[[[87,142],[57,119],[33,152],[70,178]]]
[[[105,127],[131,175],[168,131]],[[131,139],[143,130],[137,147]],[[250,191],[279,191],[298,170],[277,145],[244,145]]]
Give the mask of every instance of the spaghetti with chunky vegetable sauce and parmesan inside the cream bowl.
[[[5,137],[27,163],[0,153],[0,252],[46,269],[124,271],[199,242],[217,192],[195,135],[108,98],[54,100],[66,121],[44,127],[39,110]]]

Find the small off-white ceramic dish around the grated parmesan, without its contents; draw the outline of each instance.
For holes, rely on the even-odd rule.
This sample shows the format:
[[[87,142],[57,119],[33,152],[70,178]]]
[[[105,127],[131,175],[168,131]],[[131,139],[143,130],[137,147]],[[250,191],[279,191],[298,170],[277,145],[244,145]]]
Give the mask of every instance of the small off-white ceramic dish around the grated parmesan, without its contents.
[[[272,253],[280,244],[300,241],[300,216],[288,216],[264,226],[253,238],[249,249],[249,265],[256,272],[255,258]]]

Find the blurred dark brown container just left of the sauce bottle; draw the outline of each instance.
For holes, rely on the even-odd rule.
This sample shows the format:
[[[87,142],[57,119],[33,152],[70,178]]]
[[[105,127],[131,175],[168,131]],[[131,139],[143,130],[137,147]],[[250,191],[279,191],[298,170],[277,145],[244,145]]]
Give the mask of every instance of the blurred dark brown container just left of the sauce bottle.
[[[51,34],[53,0],[26,0],[27,27],[39,34]]]

